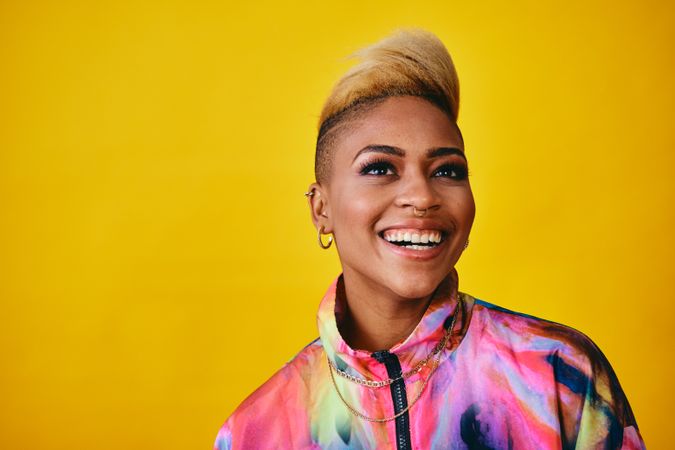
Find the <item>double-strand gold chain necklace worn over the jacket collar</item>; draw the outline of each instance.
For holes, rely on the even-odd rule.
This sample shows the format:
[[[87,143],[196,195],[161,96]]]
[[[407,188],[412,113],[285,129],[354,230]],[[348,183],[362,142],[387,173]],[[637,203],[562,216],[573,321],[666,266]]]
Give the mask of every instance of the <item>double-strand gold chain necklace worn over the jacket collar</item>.
[[[330,379],[331,379],[331,381],[333,382],[333,387],[335,388],[335,392],[337,392],[338,397],[340,397],[340,400],[342,401],[342,403],[344,403],[344,405],[347,407],[347,409],[348,409],[352,414],[354,414],[356,417],[358,417],[358,418],[360,418],[360,419],[367,420],[368,422],[378,422],[378,423],[389,422],[389,421],[392,421],[392,420],[397,419],[398,417],[400,417],[400,416],[402,416],[403,414],[405,414],[406,412],[408,412],[408,410],[409,410],[410,408],[412,408],[413,405],[414,405],[415,403],[417,403],[417,401],[420,399],[420,397],[422,397],[422,393],[424,392],[424,388],[426,388],[427,383],[428,383],[429,380],[431,379],[431,376],[436,372],[436,368],[438,367],[438,364],[440,363],[440,360],[441,360],[441,350],[442,350],[443,348],[445,348],[445,346],[447,345],[448,341],[450,340],[450,336],[452,336],[452,329],[453,329],[454,326],[455,326],[455,321],[457,320],[457,316],[458,316],[458,314],[459,314],[459,309],[460,309],[460,307],[462,306],[462,299],[461,299],[461,297],[459,296],[459,292],[457,293],[457,299],[458,299],[458,302],[457,302],[457,308],[455,309],[455,313],[452,315],[452,322],[450,323],[450,326],[445,330],[445,335],[443,336],[443,339],[441,339],[441,341],[440,341],[438,344],[436,344],[436,346],[435,346],[434,349],[431,351],[431,353],[429,353],[429,355],[427,355],[426,358],[424,358],[422,361],[420,361],[420,363],[418,363],[417,365],[415,365],[415,367],[414,367],[412,370],[409,370],[409,371],[406,372],[405,374],[402,374],[402,375],[400,375],[400,376],[398,376],[398,377],[396,377],[396,378],[393,378],[393,379],[390,378],[390,379],[384,380],[384,381],[372,381],[372,380],[365,380],[365,379],[363,379],[363,378],[357,378],[357,377],[354,377],[354,376],[352,376],[352,375],[347,374],[346,372],[343,372],[343,371],[337,369],[337,368],[333,365],[333,363],[331,362],[330,358],[328,358],[328,354],[326,354],[326,361],[328,361],[328,367],[329,367],[329,372],[330,372]],[[400,380],[400,379],[402,379],[402,378],[407,378],[408,376],[413,375],[413,374],[419,372],[419,371],[422,369],[422,367],[424,367],[424,366],[429,362],[429,360],[430,360],[432,357],[433,357],[433,365],[432,365],[432,367],[431,367],[431,371],[429,372],[429,375],[427,375],[426,379],[424,379],[424,382],[422,383],[422,386],[420,387],[420,390],[417,392],[417,395],[415,396],[415,398],[414,398],[414,399],[408,404],[408,406],[406,406],[402,411],[399,411],[397,414],[395,414],[395,415],[393,415],[393,416],[391,416],[391,417],[383,417],[383,418],[368,417],[368,416],[366,416],[365,414],[361,414],[360,412],[358,412],[358,411],[357,411],[352,405],[350,405],[349,402],[347,402],[347,400],[342,396],[342,393],[340,392],[340,389],[338,389],[337,383],[336,383],[336,381],[335,381],[335,375],[333,375],[333,371],[336,371],[338,374],[344,373],[345,375],[347,375],[345,378],[347,378],[348,380],[353,381],[354,383],[357,383],[357,384],[366,386],[366,387],[382,387],[382,386],[388,386],[388,385],[390,385],[390,384],[392,384],[392,383],[394,383],[394,382],[396,382],[396,381],[398,381],[398,380]],[[345,375],[343,375],[343,376],[345,376]],[[405,376],[404,376],[404,375],[405,375]],[[358,380],[358,381],[357,381],[357,380]],[[377,385],[376,385],[376,386],[373,386],[373,385],[370,385],[369,383],[374,383],[374,384],[377,384]],[[380,383],[386,383],[386,384],[380,385]]]

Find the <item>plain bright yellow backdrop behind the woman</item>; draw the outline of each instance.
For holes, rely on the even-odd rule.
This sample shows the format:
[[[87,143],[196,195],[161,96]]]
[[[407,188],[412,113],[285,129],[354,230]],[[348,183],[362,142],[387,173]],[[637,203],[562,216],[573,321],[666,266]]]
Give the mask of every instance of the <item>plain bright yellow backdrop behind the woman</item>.
[[[671,2],[0,3],[0,447],[210,448],[339,273],[302,193],[342,58],[435,32],[460,289],[572,325],[672,445]]]

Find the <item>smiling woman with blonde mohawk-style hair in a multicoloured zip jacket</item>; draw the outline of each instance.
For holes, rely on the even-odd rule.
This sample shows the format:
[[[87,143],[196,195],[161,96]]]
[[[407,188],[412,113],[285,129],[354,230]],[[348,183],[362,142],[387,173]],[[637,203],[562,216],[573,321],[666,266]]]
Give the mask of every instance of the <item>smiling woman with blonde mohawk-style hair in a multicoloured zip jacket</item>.
[[[215,448],[644,448],[589,338],[458,290],[475,206],[443,44],[399,32],[357,55],[323,108],[306,193],[343,269],[320,337]]]

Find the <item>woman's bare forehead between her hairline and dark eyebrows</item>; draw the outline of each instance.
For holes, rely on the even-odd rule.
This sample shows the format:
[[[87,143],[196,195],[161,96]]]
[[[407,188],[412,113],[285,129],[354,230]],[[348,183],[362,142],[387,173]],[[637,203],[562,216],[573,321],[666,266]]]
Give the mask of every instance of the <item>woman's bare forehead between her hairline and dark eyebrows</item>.
[[[337,143],[336,160],[345,160],[367,145],[390,145],[406,153],[431,147],[464,149],[457,126],[431,102],[412,96],[391,97],[353,122]]]

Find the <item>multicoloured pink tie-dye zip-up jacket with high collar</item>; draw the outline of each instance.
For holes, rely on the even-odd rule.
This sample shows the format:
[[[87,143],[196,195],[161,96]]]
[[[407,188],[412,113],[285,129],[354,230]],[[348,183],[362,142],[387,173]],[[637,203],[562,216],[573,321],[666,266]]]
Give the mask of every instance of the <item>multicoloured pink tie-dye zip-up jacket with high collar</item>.
[[[453,270],[451,282],[457,286]],[[328,356],[359,377],[387,379],[384,364],[351,349],[337,320],[336,278],[317,315],[320,338],[252,393],[220,429],[215,450],[395,449],[393,421],[353,416],[330,380]],[[450,291],[452,292],[452,291]],[[414,449],[644,449],[609,362],[582,333],[460,293],[454,336],[420,400],[409,410]],[[436,298],[412,334],[390,349],[410,370],[440,341],[457,307]],[[415,397],[429,367],[406,379]],[[370,417],[389,417],[389,388],[336,377],[343,396]]]

